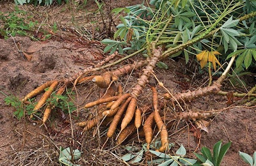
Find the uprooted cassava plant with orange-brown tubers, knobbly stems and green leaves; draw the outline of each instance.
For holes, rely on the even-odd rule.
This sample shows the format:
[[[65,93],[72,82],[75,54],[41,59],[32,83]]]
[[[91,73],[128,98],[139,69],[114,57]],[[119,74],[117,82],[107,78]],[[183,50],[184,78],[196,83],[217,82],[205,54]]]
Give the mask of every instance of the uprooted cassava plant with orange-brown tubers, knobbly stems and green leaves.
[[[244,70],[255,65],[255,1],[150,1],[151,7],[144,4],[130,6],[126,10],[116,10],[116,12],[126,11],[127,16],[121,17],[122,24],[117,26],[114,40],[103,40],[108,44],[105,51],[111,51],[111,58],[115,57],[118,50],[120,53],[129,54],[113,63],[108,63],[111,58],[104,59],[102,63],[90,66],[79,72],[74,77],[63,80],[56,80],[47,83],[49,90],[58,86],[79,86],[88,80],[92,80],[99,88],[109,89],[115,86],[113,82],[118,82],[118,78],[131,73],[132,70],[141,68],[140,78],[132,89],[127,93],[120,92],[109,93],[108,96],[100,98],[93,103],[87,103],[83,109],[98,106],[98,116],[91,121],[78,123],[84,127],[84,131],[93,126],[109,120],[111,124],[107,136],[113,137],[119,129],[116,136],[117,144],[124,142],[129,135],[140,129],[138,119],[140,114],[148,113],[143,125],[143,131],[148,145],[152,141],[152,128],[154,123],[159,130],[161,137],[161,147],[159,151],[168,151],[168,128],[161,115],[161,105],[157,102],[157,91],[152,87],[153,110],[140,108],[140,95],[147,86],[149,79],[154,75],[154,68],[159,61],[164,61],[168,57],[184,56],[186,62],[193,59],[194,55],[199,55],[200,66],[207,66],[209,73],[212,68],[216,70],[216,63],[220,65],[227,59],[230,59],[226,68],[223,66],[221,76],[218,80],[210,82],[209,86],[188,91],[186,93],[172,94],[164,87],[164,84],[158,80],[160,88],[167,91],[166,100],[170,103],[191,102],[194,98],[205,96],[211,93],[218,93],[221,89],[223,80],[234,62],[236,65],[243,66]],[[108,43],[108,42],[109,43]],[[221,49],[223,48],[223,49]],[[221,56],[218,56],[218,52]],[[246,53],[244,53],[246,52]],[[115,64],[131,58],[139,53],[144,54],[147,59],[143,59],[133,64],[126,64],[111,72],[93,75],[95,71],[102,71]],[[250,54],[249,54],[250,53]],[[105,65],[104,65],[105,64]],[[103,66],[104,65],[104,66]],[[237,66],[234,66],[235,68]],[[88,73],[91,75],[88,76]],[[57,83],[56,83],[57,82]],[[45,87],[44,87],[45,88]],[[42,91],[36,91],[33,95],[26,96],[31,98]],[[44,96],[48,96],[45,94]],[[24,101],[25,99],[24,98]],[[53,105],[51,105],[53,107]],[[182,105],[179,104],[182,109]],[[139,112],[140,111],[140,112]],[[136,113],[137,112],[137,113]],[[186,114],[185,114],[186,113]],[[205,113],[205,112],[204,112]],[[207,113],[207,112],[206,112]],[[202,114],[202,112],[180,112],[177,119],[203,119],[212,114]],[[136,123],[135,123],[136,122]],[[150,129],[151,128],[151,129]],[[216,145],[220,149],[220,144]],[[226,146],[225,146],[226,147]],[[220,151],[217,151],[220,152]],[[216,152],[215,152],[216,153]],[[223,153],[223,152],[221,152]],[[207,153],[208,154],[208,153]],[[220,155],[220,154],[219,154]],[[216,157],[213,156],[213,157]],[[213,162],[220,162],[212,160]],[[211,162],[212,162],[211,161]]]

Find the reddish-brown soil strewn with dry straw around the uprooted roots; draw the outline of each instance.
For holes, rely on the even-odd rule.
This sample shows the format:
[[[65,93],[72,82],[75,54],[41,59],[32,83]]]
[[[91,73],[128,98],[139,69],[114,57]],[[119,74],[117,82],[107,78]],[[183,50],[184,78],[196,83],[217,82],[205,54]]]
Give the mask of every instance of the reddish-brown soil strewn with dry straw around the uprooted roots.
[[[127,6],[132,3],[137,2],[127,1],[115,4],[116,6]],[[90,4],[94,5],[93,3]],[[13,4],[8,4],[8,6],[9,8],[7,9],[12,10]],[[4,9],[3,4],[0,4],[0,8],[1,10]],[[20,8],[28,9],[34,7],[24,6]],[[59,19],[60,27],[71,29],[71,19],[69,18],[74,11],[65,11],[63,10],[65,8],[67,9],[67,6],[47,9],[48,15],[51,17],[51,19],[47,20],[49,21],[47,24]],[[96,7],[94,6],[93,8]],[[38,16],[45,14],[42,10],[43,8],[40,7],[37,12]],[[60,15],[53,17],[56,13]],[[93,28],[88,24],[87,20],[93,19],[93,17],[86,20],[79,19],[83,14],[89,15],[88,10],[79,10],[74,20],[77,22],[81,21],[84,27]],[[20,43],[22,50],[31,53],[33,56],[31,61],[26,61],[22,57],[15,43]],[[125,165],[120,160],[120,157],[127,153],[124,146],[131,144],[138,147],[141,146],[138,140],[136,140],[136,135],[125,142],[124,146],[116,146],[115,139],[111,139],[102,147],[106,141],[106,126],[85,132],[82,135],[83,129],[74,126],[74,123],[88,119],[95,112],[93,109],[90,112],[80,109],[84,103],[99,98],[100,93],[102,93],[102,89],[96,87],[92,82],[77,86],[76,91],[74,91],[76,93],[75,103],[79,110],[73,112],[70,116],[63,114],[61,110],[57,110],[52,114],[51,121],[47,121],[45,126],[41,126],[40,119],[29,121],[25,117],[18,120],[13,116],[13,108],[4,104],[4,94],[13,94],[22,98],[22,96],[47,80],[67,79],[75,73],[82,71],[86,66],[99,63],[100,60],[107,56],[107,54],[103,54],[102,48],[102,45],[97,41],[89,41],[84,38],[79,39],[74,31],[58,31],[58,35],[52,36],[51,40],[46,41],[32,41],[24,36],[16,36],[8,40],[0,39],[0,165],[60,165],[58,163],[60,146],[70,146],[73,149],[83,151],[82,157],[77,162],[81,165],[113,165],[113,163],[115,165]],[[134,59],[127,60],[118,65],[124,65],[137,60],[138,57],[134,57]],[[202,79],[204,78],[203,75],[196,76],[198,81],[192,79],[192,69],[186,68],[186,64],[184,64],[182,59],[177,59],[177,61],[169,59],[169,61],[164,62],[168,64],[169,69],[156,69],[156,75],[164,83],[164,86],[172,89],[172,93],[179,93],[188,89],[194,90],[193,87],[201,86],[200,82],[206,80]],[[197,67],[195,64],[192,66],[193,68]],[[108,70],[113,69],[109,68]],[[102,72],[105,72],[105,70],[99,73]],[[125,86],[125,92],[131,92],[131,87],[136,84],[136,79],[139,76],[140,70],[136,70],[131,75],[120,78],[119,82]],[[255,79],[250,79],[252,81],[249,83],[255,84]],[[156,85],[156,81],[152,78],[150,79],[150,84]],[[228,89],[230,85],[224,85],[222,88]],[[148,87],[144,89],[143,95],[140,96],[139,105],[150,104],[151,95],[149,89]],[[160,94],[166,93],[160,87],[157,88],[157,91]],[[191,103],[186,103],[186,107],[188,110],[218,110],[225,108],[226,102],[227,99],[225,97],[211,94],[204,98],[198,98]],[[236,104],[238,103],[235,102],[234,105]],[[168,112],[170,113],[173,110],[166,109],[166,111],[166,115],[168,115]],[[168,120],[166,119],[166,121]],[[211,148],[219,140],[223,140],[223,143],[232,141],[232,146],[221,165],[246,165],[239,158],[238,152],[243,151],[252,155],[256,150],[255,107],[252,109],[246,107],[228,109],[211,119],[207,119],[207,121],[211,122],[208,127],[209,133],[202,132],[200,147],[207,146]],[[188,127],[177,132],[180,128],[187,126],[186,123],[189,124],[189,121],[177,120],[173,123],[168,130],[170,142],[176,145],[183,144],[188,150],[189,156],[195,157],[191,153],[197,146],[193,132],[188,132]],[[142,137],[141,140],[145,142]],[[175,148],[177,147],[179,146],[175,146]],[[170,150],[171,154],[173,154],[172,151],[174,150]]]

